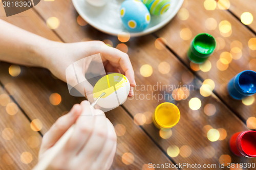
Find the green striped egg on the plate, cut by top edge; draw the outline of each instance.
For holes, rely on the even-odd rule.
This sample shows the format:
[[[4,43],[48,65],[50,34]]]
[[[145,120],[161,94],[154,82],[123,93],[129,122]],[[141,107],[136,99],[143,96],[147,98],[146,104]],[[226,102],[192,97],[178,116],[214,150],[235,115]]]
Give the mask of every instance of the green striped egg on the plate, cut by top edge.
[[[143,0],[152,15],[162,15],[170,7],[170,0]]]

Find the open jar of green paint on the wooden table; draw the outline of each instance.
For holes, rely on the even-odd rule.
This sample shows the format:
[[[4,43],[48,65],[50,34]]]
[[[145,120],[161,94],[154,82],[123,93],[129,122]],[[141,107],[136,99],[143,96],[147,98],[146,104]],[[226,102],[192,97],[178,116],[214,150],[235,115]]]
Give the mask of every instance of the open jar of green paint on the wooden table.
[[[214,53],[215,48],[215,38],[210,34],[201,33],[191,41],[187,56],[190,61],[201,64]]]

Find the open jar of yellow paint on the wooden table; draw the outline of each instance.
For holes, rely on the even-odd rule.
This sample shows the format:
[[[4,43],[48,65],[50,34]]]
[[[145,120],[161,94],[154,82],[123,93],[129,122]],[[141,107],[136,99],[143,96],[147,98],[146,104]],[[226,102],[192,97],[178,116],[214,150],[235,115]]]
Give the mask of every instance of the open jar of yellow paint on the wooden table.
[[[180,110],[173,103],[161,103],[153,115],[153,122],[158,129],[168,131],[180,120]]]

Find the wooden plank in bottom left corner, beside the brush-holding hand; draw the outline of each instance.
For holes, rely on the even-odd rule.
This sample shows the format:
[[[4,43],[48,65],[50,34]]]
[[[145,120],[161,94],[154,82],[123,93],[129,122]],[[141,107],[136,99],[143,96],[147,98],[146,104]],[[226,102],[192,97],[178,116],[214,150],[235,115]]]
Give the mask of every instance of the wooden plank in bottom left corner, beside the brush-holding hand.
[[[0,169],[31,169],[37,163],[41,136],[0,87]]]

